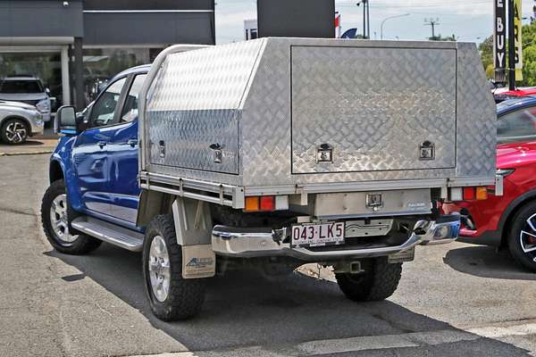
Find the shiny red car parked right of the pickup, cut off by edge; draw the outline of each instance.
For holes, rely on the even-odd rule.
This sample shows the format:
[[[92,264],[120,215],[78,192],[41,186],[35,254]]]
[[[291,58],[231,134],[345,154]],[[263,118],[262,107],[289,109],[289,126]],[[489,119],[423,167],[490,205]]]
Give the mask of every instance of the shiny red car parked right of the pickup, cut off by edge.
[[[504,195],[443,203],[446,213],[459,212],[459,241],[507,247],[515,259],[536,271],[536,97],[498,104],[497,173]]]

